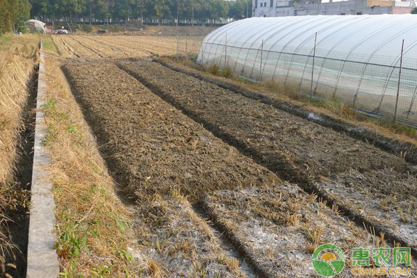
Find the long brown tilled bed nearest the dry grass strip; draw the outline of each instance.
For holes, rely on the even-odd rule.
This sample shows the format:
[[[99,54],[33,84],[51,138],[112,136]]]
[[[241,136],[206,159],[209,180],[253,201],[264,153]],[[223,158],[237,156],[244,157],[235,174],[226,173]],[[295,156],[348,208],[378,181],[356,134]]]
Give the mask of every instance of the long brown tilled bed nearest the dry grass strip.
[[[64,70],[113,177],[131,197],[181,190],[196,200],[279,181],[115,65],[77,61]]]

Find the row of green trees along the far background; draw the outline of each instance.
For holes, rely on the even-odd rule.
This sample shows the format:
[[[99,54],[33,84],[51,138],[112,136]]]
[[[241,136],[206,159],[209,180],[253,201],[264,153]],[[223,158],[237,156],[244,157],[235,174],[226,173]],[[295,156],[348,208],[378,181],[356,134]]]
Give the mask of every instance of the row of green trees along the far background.
[[[23,1],[23,0],[22,0]],[[242,19],[250,16],[252,0],[29,0],[31,17],[46,21],[64,19],[67,22],[85,19],[90,24],[126,22],[142,19],[164,23],[215,22],[220,18]],[[247,11],[249,15],[247,15]]]

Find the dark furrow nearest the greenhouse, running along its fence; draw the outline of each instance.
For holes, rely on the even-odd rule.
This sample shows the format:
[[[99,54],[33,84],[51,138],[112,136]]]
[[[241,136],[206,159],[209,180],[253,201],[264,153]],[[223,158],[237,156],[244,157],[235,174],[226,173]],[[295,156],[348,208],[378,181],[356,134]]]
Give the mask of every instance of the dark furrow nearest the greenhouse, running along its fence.
[[[207,81],[214,85],[218,85],[221,88],[231,90],[232,92],[236,92],[250,99],[259,100],[263,104],[272,105],[273,107],[280,109],[281,111],[291,113],[292,115],[301,117],[302,119],[309,120],[311,122],[315,122],[316,124],[320,124],[321,126],[331,128],[334,131],[347,134],[352,138],[361,140],[370,145],[374,145],[375,147],[378,147],[379,149],[382,149],[385,152],[390,152],[391,154],[395,155],[401,155],[407,162],[417,165],[417,147],[409,142],[401,142],[400,140],[387,138],[386,136],[382,136],[381,134],[377,133],[377,131],[350,124],[349,122],[335,119],[334,117],[330,117],[329,115],[308,111],[300,106],[295,106],[286,101],[277,101],[259,92],[254,92],[245,88],[239,88],[238,86],[232,83],[228,83],[227,81],[220,81],[217,79],[210,78],[208,76],[204,76],[197,72],[191,72],[190,70],[186,70],[182,67],[177,67],[175,65],[171,65],[170,63],[166,63],[163,60],[154,59],[154,61],[169,68],[170,70],[181,72],[183,74],[188,74],[197,79]]]

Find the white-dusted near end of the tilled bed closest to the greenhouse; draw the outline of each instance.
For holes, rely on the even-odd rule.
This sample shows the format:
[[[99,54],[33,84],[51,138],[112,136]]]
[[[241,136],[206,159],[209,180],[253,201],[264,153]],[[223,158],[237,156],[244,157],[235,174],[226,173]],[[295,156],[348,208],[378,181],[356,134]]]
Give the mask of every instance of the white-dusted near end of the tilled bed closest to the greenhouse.
[[[417,247],[416,185],[416,175],[389,169],[363,173],[350,170],[331,181],[316,182],[320,190],[338,203],[351,206],[372,222],[382,222],[414,247]]]

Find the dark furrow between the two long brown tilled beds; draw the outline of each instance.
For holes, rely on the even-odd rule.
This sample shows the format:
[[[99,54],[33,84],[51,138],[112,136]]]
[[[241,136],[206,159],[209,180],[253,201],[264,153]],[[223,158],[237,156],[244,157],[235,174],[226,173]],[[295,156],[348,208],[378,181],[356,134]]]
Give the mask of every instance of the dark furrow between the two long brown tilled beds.
[[[365,226],[366,230],[374,231],[375,234],[384,233],[385,237],[388,240],[390,240],[393,244],[396,242],[400,243],[401,245],[410,246],[409,242],[407,242],[407,240],[402,236],[393,234],[391,231],[386,229],[384,225],[379,224],[377,222],[373,222],[372,220],[366,218],[364,215],[361,215],[361,213],[358,213],[349,206],[346,206],[345,204],[343,204],[343,202],[340,202],[338,199],[335,199],[331,195],[325,193],[325,191],[320,190],[320,188],[316,186],[316,184],[311,180],[310,177],[300,172],[300,170],[298,170],[298,168],[294,165],[288,164],[286,162],[285,157],[276,158],[274,161],[265,161],[265,157],[262,154],[260,154],[258,150],[247,145],[247,143],[244,140],[240,140],[239,138],[232,136],[227,131],[224,131],[221,128],[219,128],[219,126],[212,124],[208,120],[205,120],[204,117],[199,115],[199,113],[196,113],[195,111],[193,111],[193,109],[190,109],[186,105],[183,105],[181,101],[177,101],[175,97],[172,97],[163,88],[156,85],[155,83],[152,83],[152,81],[147,80],[147,78],[140,76],[140,74],[138,74],[137,72],[130,70],[128,67],[120,63],[118,63],[118,66],[122,68],[122,70],[125,70],[132,76],[136,77],[138,81],[146,85],[156,95],[160,96],[180,111],[183,111],[184,114],[188,115],[188,117],[191,117],[196,122],[203,124],[203,126],[209,131],[211,131],[213,134],[215,134],[215,136],[221,138],[229,145],[236,147],[240,150],[240,152],[242,152],[246,156],[250,156],[252,159],[254,159],[254,161],[259,163],[260,165],[263,165],[272,172],[277,173],[279,177],[283,177],[288,181],[297,183],[307,193],[314,193],[318,195],[319,198],[325,199],[327,201],[327,206],[329,206],[330,208],[337,206],[341,213],[347,216],[347,218],[354,220],[354,222],[356,222],[359,227]],[[280,167],[285,168],[284,176],[283,172],[277,172],[277,169],[279,169]],[[416,247],[412,248],[412,252],[413,255],[416,256]]]

